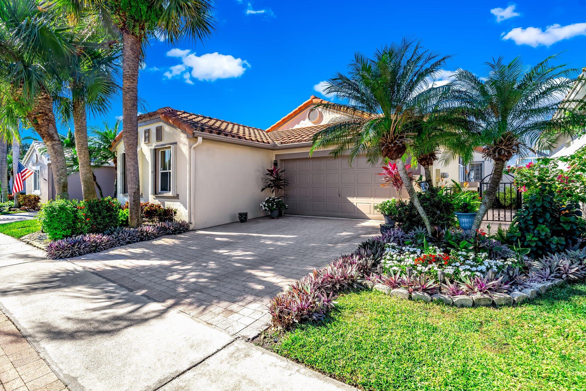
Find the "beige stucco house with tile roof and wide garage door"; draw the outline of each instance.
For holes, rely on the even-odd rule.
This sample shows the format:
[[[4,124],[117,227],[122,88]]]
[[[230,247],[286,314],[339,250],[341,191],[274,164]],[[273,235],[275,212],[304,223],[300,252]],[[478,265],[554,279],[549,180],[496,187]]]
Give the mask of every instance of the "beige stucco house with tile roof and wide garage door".
[[[204,115],[159,108],[138,116],[138,164],[142,202],[158,202],[178,209],[178,218],[194,229],[234,222],[238,212],[264,216],[260,203],[270,192],[263,187],[266,169],[286,170],[287,213],[311,216],[382,219],[374,211],[381,200],[396,197],[381,188],[379,166],[359,157],[352,166],[347,157],[334,159],[329,151],[309,158],[311,138],[340,113],[323,110],[312,96],[267,130]],[[122,132],[112,150],[118,158],[118,199],[128,200]],[[480,181],[492,172],[492,162],[481,150],[467,166],[457,161],[434,165],[447,181]],[[418,167],[414,175],[419,175]],[[464,178],[465,176],[466,178]],[[451,183],[451,182],[450,182]],[[403,191],[403,198],[407,193]]]

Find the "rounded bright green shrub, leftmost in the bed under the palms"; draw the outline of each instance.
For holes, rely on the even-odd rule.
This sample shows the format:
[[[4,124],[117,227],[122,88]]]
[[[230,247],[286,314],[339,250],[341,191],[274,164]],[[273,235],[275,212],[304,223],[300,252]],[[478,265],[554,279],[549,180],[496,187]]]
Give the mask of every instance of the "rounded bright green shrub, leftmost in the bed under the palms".
[[[86,233],[87,220],[81,215],[81,210],[83,209],[77,209],[77,202],[57,198],[43,204],[37,218],[49,239],[62,239]]]

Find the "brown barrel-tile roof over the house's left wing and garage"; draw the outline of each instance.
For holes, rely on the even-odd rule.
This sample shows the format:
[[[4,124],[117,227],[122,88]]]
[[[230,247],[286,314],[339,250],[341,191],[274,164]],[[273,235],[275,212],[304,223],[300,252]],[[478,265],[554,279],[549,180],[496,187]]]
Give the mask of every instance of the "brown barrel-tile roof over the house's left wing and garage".
[[[183,110],[175,110],[171,107],[162,107],[159,110],[138,116],[138,123],[160,117],[162,121],[169,123],[183,132],[191,135],[195,131],[209,134],[217,134],[225,137],[237,138],[259,142],[267,145],[292,144],[295,142],[311,141],[311,137],[316,131],[323,129],[327,125],[316,125],[304,128],[293,128],[268,132],[260,128],[253,128],[246,125],[233,123],[230,121],[219,120],[217,118],[206,117],[205,115],[188,113]],[[120,132],[113,145],[122,138]]]

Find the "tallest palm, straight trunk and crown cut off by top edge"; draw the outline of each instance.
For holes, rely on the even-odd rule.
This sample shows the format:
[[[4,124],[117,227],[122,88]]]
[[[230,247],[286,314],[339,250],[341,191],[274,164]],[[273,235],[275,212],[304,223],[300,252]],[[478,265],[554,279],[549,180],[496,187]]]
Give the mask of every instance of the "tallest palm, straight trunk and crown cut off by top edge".
[[[164,35],[169,44],[183,38],[202,40],[212,33],[214,18],[209,0],[57,0],[66,11],[79,15],[93,11],[96,19],[117,30],[122,36],[122,141],[126,160],[129,223],[141,223],[138,173],[138,69],[144,57],[144,45],[156,35]],[[108,23],[109,22],[109,23]]]

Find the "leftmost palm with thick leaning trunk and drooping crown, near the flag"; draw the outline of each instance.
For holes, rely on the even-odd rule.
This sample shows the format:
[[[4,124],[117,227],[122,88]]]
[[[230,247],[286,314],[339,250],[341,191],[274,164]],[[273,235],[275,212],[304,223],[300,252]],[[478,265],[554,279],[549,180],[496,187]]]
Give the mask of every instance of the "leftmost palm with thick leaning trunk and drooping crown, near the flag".
[[[11,115],[2,111],[0,122],[16,128],[20,118],[39,134],[51,157],[56,193],[69,198],[53,101],[73,44],[58,16],[48,4],[35,0],[6,0],[0,7],[0,106],[13,108]]]

